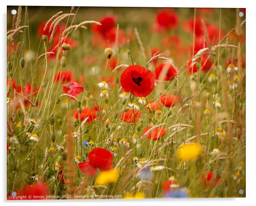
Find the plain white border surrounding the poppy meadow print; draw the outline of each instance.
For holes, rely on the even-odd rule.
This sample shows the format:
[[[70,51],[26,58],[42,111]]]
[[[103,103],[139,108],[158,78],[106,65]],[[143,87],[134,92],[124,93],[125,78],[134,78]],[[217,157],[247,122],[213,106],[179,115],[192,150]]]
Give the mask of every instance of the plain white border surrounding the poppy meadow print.
[[[255,99],[256,99],[256,85],[253,84],[256,82],[256,26],[255,26],[255,4],[253,1],[249,0],[213,0],[213,1],[205,1],[205,0],[190,0],[190,1],[139,1],[139,0],[83,0],[83,1],[71,1],[71,0],[8,0],[7,2],[1,1],[1,44],[3,48],[0,50],[0,58],[1,58],[1,69],[0,69],[0,82],[1,82],[1,187],[0,187],[0,195],[1,200],[4,201],[3,204],[6,204],[6,3],[8,5],[27,5],[27,6],[122,6],[122,7],[215,7],[215,8],[246,8],[246,92],[247,92],[247,100],[246,100],[246,198],[201,198],[201,199],[144,199],[144,200],[63,200],[63,201],[22,201],[22,202],[7,202],[9,205],[12,204],[62,204],[68,205],[71,203],[83,205],[103,205],[111,204],[111,205],[131,205],[131,204],[162,204],[162,205],[188,205],[189,206],[200,206],[200,205],[215,205],[216,204],[225,204],[226,206],[232,205],[236,206],[246,203],[247,205],[254,205],[255,199],[255,186],[256,186],[256,166],[255,166],[255,150],[256,150],[256,135],[255,135]],[[254,127],[254,128],[253,128]],[[254,204],[253,204],[254,203]]]

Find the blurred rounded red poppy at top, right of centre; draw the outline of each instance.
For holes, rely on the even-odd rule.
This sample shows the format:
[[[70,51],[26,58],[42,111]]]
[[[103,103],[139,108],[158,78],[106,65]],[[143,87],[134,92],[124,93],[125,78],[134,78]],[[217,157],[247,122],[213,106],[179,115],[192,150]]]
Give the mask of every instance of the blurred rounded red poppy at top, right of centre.
[[[166,31],[175,29],[179,23],[179,17],[174,11],[160,11],[156,14],[156,23],[153,25],[153,31]]]

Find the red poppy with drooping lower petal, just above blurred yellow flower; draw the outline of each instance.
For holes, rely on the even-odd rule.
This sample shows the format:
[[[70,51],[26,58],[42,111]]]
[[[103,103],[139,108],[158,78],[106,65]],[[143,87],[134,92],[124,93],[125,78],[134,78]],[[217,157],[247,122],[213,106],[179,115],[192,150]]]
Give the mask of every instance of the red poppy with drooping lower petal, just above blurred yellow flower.
[[[97,168],[100,171],[110,170],[113,164],[113,156],[110,151],[103,148],[95,148],[88,153],[89,161],[78,163],[79,169],[85,175],[93,177],[97,173]]]

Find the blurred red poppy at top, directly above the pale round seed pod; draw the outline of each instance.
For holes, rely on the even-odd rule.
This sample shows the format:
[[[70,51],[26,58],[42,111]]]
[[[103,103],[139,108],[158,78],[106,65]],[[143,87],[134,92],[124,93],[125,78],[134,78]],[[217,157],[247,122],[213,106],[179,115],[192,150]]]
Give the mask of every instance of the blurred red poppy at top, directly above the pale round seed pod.
[[[101,25],[91,25],[91,31],[93,31],[94,33],[100,33],[102,36],[105,36],[106,32],[108,32],[111,28],[114,27],[116,23],[116,17],[106,16],[102,19],[99,19],[98,22],[100,22]]]

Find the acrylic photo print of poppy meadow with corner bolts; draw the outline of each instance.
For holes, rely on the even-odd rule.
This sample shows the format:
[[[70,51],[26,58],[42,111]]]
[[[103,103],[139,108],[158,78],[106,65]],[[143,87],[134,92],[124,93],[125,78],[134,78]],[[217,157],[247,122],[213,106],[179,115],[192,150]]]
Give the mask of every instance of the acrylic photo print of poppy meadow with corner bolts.
[[[245,15],[8,6],[7,199],[245,197]]]

